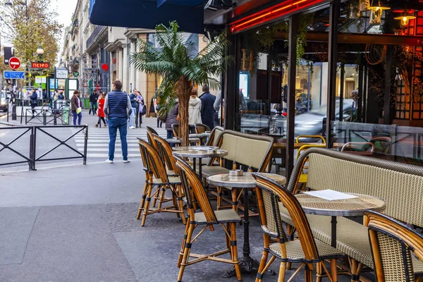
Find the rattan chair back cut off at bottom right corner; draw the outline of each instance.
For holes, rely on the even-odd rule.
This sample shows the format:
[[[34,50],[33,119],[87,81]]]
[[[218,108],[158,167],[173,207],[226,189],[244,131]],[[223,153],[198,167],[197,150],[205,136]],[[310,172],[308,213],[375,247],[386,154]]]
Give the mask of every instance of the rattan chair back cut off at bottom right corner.
[[[423,262],[423,236],[404,223],[377,212],[369,218],[369,240],[378,282],[422,281],[415,277],[412,252]]]

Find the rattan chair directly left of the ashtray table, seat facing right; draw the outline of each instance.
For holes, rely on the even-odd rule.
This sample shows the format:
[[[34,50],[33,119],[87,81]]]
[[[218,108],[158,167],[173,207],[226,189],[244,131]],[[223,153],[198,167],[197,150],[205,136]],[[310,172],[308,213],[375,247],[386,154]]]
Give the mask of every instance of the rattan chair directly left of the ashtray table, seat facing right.
[[[185,227],[185,234],[178,260],[178,267],[180,267],[178,281],[182,281],[185,266],[202,262],[204,260],[233,264],[233,266],[235,266],[238,281],[242,281],[240,266],[238,264],[238,250],[236,243],[236,224],[241,222],[240,216],[233,209],[214,211],[212,209],[212,205],[207,199],[207,194],[203,188],[200,178],[197,176],[197,173],[192,170],[189,164],[178,157],[176,157],[176,166],[180,168],[180,178],[183,189],[185,190],[188,207],[187,225]],[[193,201],[194,197],[202,212],[195,212],[195,205]],[[214,231],[214,225],[219,224],[223,227],[223,231],[225,233],[226,248],[210,255],[192,253],[192,243],[197,242],[199,236],[208,228],[210,228],[211,231]],[[197,226],[204,227],[201,231],[199,231],[199,233],[197,233],[197,235],[194,236],[194,238],[192,238]],[[227,253],[229,253],[231,259],[223,259],[219,257]],[[191,257],[193,258],[192,260],[190,260]]]

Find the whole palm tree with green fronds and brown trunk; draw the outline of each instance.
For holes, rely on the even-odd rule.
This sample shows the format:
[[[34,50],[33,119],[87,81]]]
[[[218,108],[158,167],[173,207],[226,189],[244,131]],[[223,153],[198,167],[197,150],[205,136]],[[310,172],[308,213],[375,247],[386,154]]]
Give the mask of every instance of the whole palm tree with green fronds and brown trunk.
[[[192,87],[209,85],[214,90],[219,89],[216,78],[222,75],[225,63],[233,63],[233,57],[224,56],[229,44],[224,34],[197,51],[196,44],[185,42],[178,29],[176,22],[171,22],[169,27],[157,25],[155,35],[159,46],[138,39],[138,50],[131,54],[130,62],[139,71],[163,78],[156,92],[159,111],[170,111],[178,98],[180,139],[183,146],[188,146],[188,106]]]

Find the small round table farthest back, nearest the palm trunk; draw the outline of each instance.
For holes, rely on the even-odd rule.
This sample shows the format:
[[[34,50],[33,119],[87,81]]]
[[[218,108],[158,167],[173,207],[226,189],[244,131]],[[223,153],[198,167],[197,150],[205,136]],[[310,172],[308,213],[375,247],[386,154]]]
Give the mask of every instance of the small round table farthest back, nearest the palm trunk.
[[[193,149],[196,148],[196,149]],[[194,164],[193,168],[195,170],[195,159],[198,159],[198,174],[200,178],[202,176],[202,159],[203,158],[216,158],[216,157],[224,157],[228,154],[228,151],[222,149],[213,149],[210,147],[201,147],[201,146],[194,146],[194,147],[185,147],[185,149],[177,149],[173,151],[173,156],[180,157],[180,158],[192,158]]]

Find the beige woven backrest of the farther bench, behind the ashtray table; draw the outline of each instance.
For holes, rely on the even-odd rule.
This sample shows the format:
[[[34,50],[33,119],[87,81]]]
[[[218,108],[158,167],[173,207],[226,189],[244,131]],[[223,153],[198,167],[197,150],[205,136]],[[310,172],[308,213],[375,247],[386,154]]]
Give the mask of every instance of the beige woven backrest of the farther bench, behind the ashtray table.
[[[268,166],[269,161],[271,161],[274,143],[272,137],[224,130],[216,142],[218,147],[228,151],[228,154],[223,159],[255,168],[259,172],[269,171]]]

